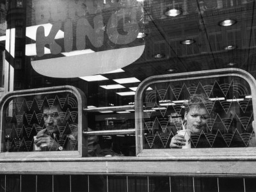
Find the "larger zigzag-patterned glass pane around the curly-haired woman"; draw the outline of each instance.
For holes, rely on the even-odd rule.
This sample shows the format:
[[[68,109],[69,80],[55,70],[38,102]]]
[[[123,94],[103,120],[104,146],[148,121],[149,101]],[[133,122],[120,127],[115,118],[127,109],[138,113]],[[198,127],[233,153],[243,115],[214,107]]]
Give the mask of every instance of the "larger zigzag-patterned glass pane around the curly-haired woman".
[[[143,148],[170,148],[177,131],[192,129],[184,115],[192,110],[189,98],[195,95],[207,102],[199,99],[206,111],[200,121],[205,124],[193,128],[198,132],[191,133],[191,148],[255,146],[252,94],[244,79],[218,77],[149,86],[153,90],[145,91],[143,96]]]

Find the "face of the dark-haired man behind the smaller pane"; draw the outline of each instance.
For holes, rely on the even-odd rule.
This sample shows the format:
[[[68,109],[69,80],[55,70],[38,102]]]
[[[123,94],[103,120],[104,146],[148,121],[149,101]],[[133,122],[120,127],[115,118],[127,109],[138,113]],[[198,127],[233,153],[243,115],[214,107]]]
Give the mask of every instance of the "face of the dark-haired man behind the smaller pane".
[[[62,112],[60,107],[58,106],[52,106],[52,108],[45,108],[44,109],[44,124],[45,127],[48,129],[48,131],[54,132],[55,129],[57,129],[57,125],[61,125],[61,118],[58,113]]]

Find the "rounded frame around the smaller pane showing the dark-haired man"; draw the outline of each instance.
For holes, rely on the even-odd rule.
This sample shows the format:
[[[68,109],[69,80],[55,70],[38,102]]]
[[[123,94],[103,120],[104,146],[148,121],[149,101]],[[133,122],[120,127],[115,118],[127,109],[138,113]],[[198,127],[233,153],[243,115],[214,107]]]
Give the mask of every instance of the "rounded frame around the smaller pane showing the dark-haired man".
[[[86,99],[84,93],[75,88],[74,86],[56,86],[51,88],[40,88],[40,89],[33,89],[33,90],[22,90],[22,91],[15,91],[6,93],[1,98],[0,103],[0,110],[3,111],[4,104],[12,98],[15,97],[24,97],[24,96],[31,96],[31,95],[39,95],[39,94],[49,94],[49,93],[61,93],[61,92],[70,92],[73,93],[76,98],[78,105],[78,150],[77,151],[49,151],[49,152],[1,152],[0,159],[6,158],[42,158],[42,157],[82,157],[86,156],[87,154],[87,147],[83,143],[87,143],[84,137],[82,136],[82,129],[87,127],[86,118],[83,114],[82,106],[86,106]],[[3,113],[0,113],[0,122],[3,122]],[[3,130],[3,123],[0,124],[0,145],[2,145],[2,130]]]

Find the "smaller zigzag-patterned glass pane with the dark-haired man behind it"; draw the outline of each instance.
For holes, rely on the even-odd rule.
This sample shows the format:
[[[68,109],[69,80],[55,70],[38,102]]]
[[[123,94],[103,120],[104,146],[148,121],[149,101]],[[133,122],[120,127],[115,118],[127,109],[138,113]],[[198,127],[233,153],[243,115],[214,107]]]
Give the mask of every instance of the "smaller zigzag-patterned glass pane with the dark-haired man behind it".
[[[77,113],[77,99],[68,92],[12,97],[3,106],[1,152],[77,150]],[[44,143],[47,136],[55,147]]]

